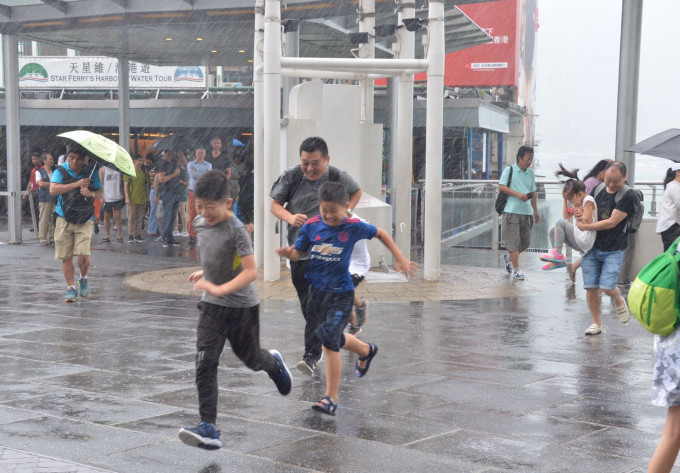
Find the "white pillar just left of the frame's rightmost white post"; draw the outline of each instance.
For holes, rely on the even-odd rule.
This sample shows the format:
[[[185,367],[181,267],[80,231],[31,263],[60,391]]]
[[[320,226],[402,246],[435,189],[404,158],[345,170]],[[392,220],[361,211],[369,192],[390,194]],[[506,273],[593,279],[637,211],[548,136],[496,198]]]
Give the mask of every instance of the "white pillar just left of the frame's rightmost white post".
[[[397,22],[414,18],[413,3],[403,3]],[[403,26],[397,30],[399,59],[413,59],[415,33]],[[411,254],[411,182],[413,175],[413,74],[403,73],[397,79],[397,150],[396,172],[393,181],[392,205],[395,207],[394,241],[404,255]]]

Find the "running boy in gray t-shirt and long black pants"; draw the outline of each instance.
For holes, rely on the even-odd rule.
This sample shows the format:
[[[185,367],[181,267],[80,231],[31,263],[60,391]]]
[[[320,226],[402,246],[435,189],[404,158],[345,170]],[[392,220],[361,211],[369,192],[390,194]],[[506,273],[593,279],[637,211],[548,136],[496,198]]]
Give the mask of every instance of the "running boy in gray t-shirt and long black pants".
[[[196,340],[196,387],[201,423],[182,428],[187,445],[220,448],[217,418],[217,367],[227,340],[234,354],[253,371],[264,370],[283,395],[290,393],[292,377],[276,350],[260,348],[260,305],[253,281],[257,277],[250,237],[229,211],[229,179],[220,171],[203,174],[194,187],[194,220],[202,270],[189,276],[194,290],[203,291]]]

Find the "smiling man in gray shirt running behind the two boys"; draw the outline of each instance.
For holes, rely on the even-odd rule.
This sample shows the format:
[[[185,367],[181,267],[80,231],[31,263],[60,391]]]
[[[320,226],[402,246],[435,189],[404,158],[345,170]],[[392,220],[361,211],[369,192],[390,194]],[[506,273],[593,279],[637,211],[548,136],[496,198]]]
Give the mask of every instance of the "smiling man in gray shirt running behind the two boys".
[[[349,194],[350,212],[361,198],[361,187],[356,179],[348,172],[331,166],[330,160],[328,145],[323,138],[307,138],[300,145],[300,164],[286,169],[272,186],[269,193],[273,199],[270,211],[276,218],[288,224],[288,243],[291,245],[295,243],[300,227],[307,219],[319,213],[321,184],[329,180],[342,183]],[[305,255],[299,261],[291,261],[290,273],[305,318],[305,354],[297,368],[311,375],[321,359],[321,340],[316,336],[316,329],[323,314],[307,313],[307,259],[308,256]]]

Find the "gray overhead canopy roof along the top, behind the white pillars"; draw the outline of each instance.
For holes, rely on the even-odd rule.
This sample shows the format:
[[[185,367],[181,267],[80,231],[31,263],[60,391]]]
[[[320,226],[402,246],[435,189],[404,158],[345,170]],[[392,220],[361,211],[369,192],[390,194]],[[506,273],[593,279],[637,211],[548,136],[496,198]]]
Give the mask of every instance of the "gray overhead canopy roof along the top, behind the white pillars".
[[[490,41],[455,7],[482,1],[489,0],[446,1],[447,52]],[[0,33],[155,65],[245,66],[252,58],[254,4],[255,0],[0,0]],[[375,5],[376,25],[396,24],[394,0],[376,0]],[[283,20],[300,22],[300,56],[351,57],[356,45],[348,33],[358,31],[358,6],[358,0],[286,0],[281,15]],[[417,11],[421,18],[426,14]],[[394,41],[394,35],[376,38],[376,56],[389,57]],[[416,48],[422,57],[419,40]]]

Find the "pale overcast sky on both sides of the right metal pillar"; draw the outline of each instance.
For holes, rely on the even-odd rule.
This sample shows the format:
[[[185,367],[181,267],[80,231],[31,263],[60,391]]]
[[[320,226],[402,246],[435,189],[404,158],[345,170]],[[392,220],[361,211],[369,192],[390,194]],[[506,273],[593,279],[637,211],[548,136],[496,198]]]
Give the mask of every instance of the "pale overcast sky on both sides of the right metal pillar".
[[[539,2],[536,138],[546,164],[561,160],[585,169],[614,157],[621,3]],[[636,141],[680,128],[680,38],[674,33],[680,1],[646,0],[642,18]],[[662,179],[667,164],[639,159],[636,180]]]

